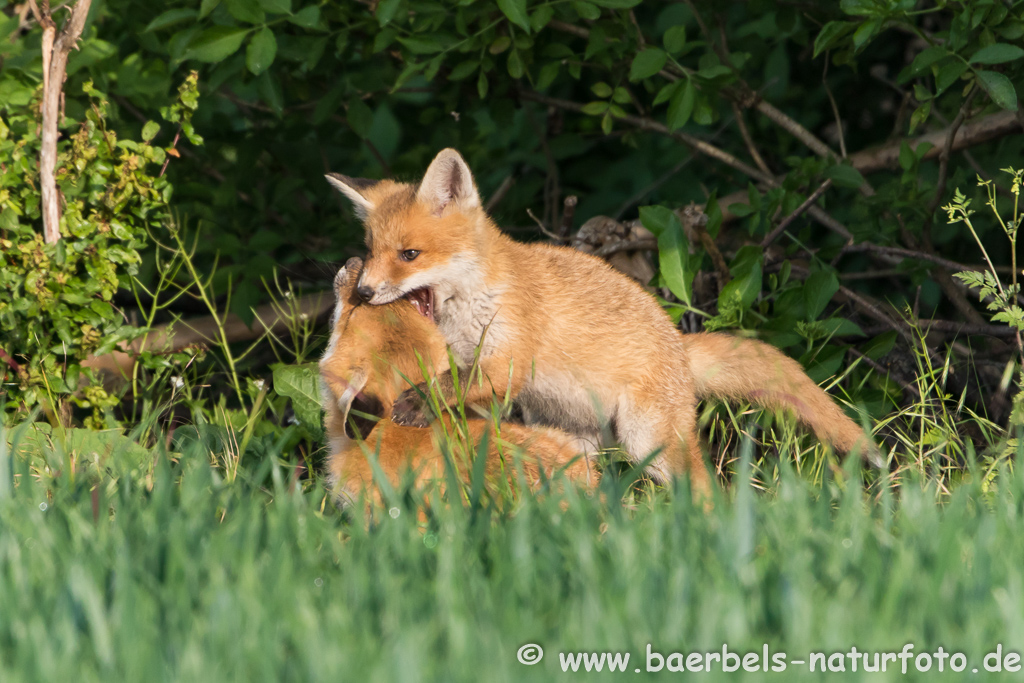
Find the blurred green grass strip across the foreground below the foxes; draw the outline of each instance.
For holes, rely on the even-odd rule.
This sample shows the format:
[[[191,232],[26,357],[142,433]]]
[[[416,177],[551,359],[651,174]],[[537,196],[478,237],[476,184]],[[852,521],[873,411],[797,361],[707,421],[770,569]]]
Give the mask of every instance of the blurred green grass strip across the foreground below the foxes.
[[[5,682],[617,680],[648,676],[633,672],[648,643],[767,643],[795,659],[908,642],[968,656],[942,680],[987,680],[971,673],[985,653],[1024,649],[1024,477],[1010,472],[936,503],[934,484],[867,492],[841,471],[818,487],[783,463],[769,494],[735,483],[708,513],[685,483],[624,506],[627,482],[608,478],[604,502],[569,489],[505,512],[434,496],[424,524],[415,496],[346,519],[272,455],[228,483],[195,444],[73,469],[60,449],[27,458],[5,442]],[[544,647],[540,664],[517,661],[525,643]],[[628,651],[628,673],[562,673],[558,653],[577,650]],[[825,678],[936,676],[889,666],[847,660]],[[694,676],[822,678],[806,672]]]

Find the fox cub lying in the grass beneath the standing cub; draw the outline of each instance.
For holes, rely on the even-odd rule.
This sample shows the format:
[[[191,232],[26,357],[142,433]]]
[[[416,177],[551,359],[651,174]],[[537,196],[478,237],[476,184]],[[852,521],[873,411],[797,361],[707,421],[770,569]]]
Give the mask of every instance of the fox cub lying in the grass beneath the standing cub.
[[[410,467],[418,484],[443,480],[444,459],[437,449],[438,429],[419,429],[394,424],[391,404],[411,380],[423,376],[417,352],[424,366],[447,370],[444,340],[430,321],[420,315],[408,301],[386,306],[370,306],[355,295],[355,283],[362,261],[349,259],[335,278],[338,301],[331,324],[331,341],[319,362],[324,389],[325,426],[330,439],[329,474],[336,500],[346,505],[369,494],[369,501],[380,502],[373,486],[373,470],[364,449],[377,452],[381,469],[392,485],[398,485],[402,471]],[[358,434],[349,423],[350,412],[380,416],[376,423],[354,417]],[[492,423],[470,419],[469,449]],[[444,421],[450,430],[453,425]],[[365,438],[365,442],[357,440]],[[527,481],[542,481],[541,470],[550,477],[564,469],[572,480],[592,482],[595,473],[585,458],[580,458],[575,438],[556,429],[531,429],[503,424],[500,435],[492,435],[487,451],[488,476],[515,477],[512,454],[522,451],[522,470]],[[504,470],[503,470],[504,467]]]

